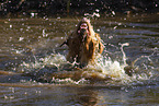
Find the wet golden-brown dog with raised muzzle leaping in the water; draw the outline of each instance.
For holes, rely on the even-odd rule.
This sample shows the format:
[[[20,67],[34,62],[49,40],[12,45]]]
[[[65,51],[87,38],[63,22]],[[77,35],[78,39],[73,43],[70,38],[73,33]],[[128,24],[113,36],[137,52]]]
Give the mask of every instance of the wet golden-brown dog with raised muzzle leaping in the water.
[[[67,60],[79,62],[82,67],[90,62],[93,63],[95,56],[102,54],[104,49],[100,35],[93,31],[90,20],[87,17],[79,22],[77,30],[64,44],[69,48]]]

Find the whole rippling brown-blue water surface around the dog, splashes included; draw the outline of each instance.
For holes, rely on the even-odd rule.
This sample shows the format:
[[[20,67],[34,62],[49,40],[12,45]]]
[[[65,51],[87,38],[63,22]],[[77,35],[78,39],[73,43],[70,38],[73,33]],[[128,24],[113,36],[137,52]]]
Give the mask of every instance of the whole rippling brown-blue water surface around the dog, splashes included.
[[[80,17],[1,19],[0,104],[158,105],[158,17],[92,20],[105,49],[83,69],[66,61],[67,46],[59,47]]]

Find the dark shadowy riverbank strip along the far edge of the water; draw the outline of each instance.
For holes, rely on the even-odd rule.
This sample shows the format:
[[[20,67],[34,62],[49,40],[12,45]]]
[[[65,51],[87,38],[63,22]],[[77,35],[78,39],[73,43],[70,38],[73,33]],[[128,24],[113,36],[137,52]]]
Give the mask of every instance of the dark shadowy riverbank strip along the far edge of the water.
[[[2,0],[0,16],[107,16],[158,13],[157,0]]]

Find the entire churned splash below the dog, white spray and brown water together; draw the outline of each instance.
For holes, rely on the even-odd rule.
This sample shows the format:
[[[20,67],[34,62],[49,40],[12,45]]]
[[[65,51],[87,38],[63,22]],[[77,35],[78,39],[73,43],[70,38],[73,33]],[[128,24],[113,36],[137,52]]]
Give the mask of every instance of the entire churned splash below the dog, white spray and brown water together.
[[[123,54],[123,63],[118,61],[112,61],[111,58],[101,56],[95,59],[95,64],[88,64],[83,69],[79,69],[77,62],[70,63],[66,60],[64,55],[52,54],[45,58],[35,59],[35,62],[23,62],[19,70],[22,73],[33,73],[36,78],[49,79],[52,83],[60,84],[81,84],[88,83],[88,81],[104,81],[104,83],[120,83],[130,84],[134,82],[140,83],[144,80],[151,78],[151,72],[140,74],[133,74],[129,76],[126,74],[124,68],[126,63],[126,55],[123,47],[128,46],[128,43],[120,44],[121,51]],[[35,57],[36,58],[36,57]],[[149,58],[148,58],[149,59]],[[139,59],[135,60],[138,61]]]

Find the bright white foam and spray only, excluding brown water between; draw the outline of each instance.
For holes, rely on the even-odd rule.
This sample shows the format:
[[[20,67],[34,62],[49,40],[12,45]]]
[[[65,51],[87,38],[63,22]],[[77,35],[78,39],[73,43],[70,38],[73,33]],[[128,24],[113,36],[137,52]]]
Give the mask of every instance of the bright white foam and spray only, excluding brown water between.
[[[123,63],[120,63],[118,61],[112,61],[110,57],[101,56],[101,58],[95,59],[95,64],[88,64],[87,68],[82,69],[83,74],[87,73],[87,78],[92,76],[93,72],[101,79],[104,79],[106,76],[110,76],[114,82],[120,82],[122,84],[128,84],[132,82],[138,82],[143,80],[150,79],[150,74],[152,73],[140,73],[140,74],[133,74],[133,76],[129,76],[125,73],[124,67],[127,66],[126,63],[126,55],[124,52],[123,47],[128,46],[129,44],[121,44],[121,51],[123,52]],[[41,58],[39,60],[35,59],[35,62],[23,62],[21,64],[23,71],[34,71],[34,69],[42,69],[44,67],[52,66],[57,67],[58,71],[64,71],[63,68],[65,64],[76,66],[77,62],[70,63],[66,60],[64,55],[60,54],[53,54],[50,56],[47,56],[45,58]],[[70,68],[72,68],[70,67]],[[77,70],[78,71],[78,70]],[[53,78],[53,83],[73,83],[73,84],[80,84],[86,83],[87,80],[84,79],[84,75],[81,75],[81,79],[78,81],[73,81],[71,78],[66,79],[55,79]]]

